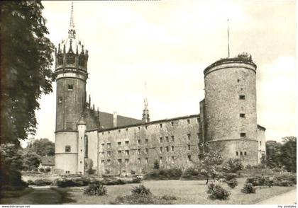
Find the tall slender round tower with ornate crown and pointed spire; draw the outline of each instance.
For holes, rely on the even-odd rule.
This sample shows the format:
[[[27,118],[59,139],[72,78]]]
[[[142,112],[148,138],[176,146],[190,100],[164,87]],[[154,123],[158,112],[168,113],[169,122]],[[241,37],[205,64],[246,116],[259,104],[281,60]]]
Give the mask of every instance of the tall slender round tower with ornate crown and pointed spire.
[[[55,49],[56,93],[56,131],[55,131],[55,169],[60,173],[78,173],[78,161],[84,161],[82,149],[79,149],[79,131],[82,113],[86,108],[88,51],[75,37],[73,6],[70,16],[70,28],[66,40]],[[82,127],[84,129],[84,127]],[[84,134],[81,136],[84,138]],[[84,139],[82,139],[83,141]],[[81,162],[82,163],[82,162]]]

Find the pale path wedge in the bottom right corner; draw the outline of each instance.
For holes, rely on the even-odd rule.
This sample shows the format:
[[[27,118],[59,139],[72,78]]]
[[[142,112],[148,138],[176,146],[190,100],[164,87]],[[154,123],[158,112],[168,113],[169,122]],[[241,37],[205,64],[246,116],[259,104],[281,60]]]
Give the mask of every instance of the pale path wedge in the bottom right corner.
[[[286,192],[285,194],[272,197],[270,199],[259,202],[258,204],[296,204],[296,189]]]

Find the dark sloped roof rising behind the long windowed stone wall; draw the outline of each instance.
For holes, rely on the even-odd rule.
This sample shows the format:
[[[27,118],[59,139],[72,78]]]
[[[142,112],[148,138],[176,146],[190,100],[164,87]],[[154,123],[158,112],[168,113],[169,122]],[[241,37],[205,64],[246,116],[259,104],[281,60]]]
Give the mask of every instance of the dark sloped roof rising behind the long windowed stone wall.
[[[101,127],[104,129],[110,129],[114,127],[114,115],[111,113],[99,111],[99,121]],[[132,117],[117,115],[117,127],[136,125],[142,122],[142,120],[138,120]]]

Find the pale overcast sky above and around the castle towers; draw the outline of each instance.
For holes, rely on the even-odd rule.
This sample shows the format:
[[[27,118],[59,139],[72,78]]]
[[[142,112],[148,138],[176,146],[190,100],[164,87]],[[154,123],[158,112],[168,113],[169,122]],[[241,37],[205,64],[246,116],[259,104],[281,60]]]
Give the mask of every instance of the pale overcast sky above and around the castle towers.
[[[43,1],[50,40],[67,37],[70,1]],[[89,50],[87,95],[101,111],[151,120],[199,113],[203,70],[252,54],[258,124],[267,140],[296,135],[294,1],[75,1],[77,38]],[[53,68],[54,70],[54,68]],[[42,96],[35,138],[55,141],[55,89]]]

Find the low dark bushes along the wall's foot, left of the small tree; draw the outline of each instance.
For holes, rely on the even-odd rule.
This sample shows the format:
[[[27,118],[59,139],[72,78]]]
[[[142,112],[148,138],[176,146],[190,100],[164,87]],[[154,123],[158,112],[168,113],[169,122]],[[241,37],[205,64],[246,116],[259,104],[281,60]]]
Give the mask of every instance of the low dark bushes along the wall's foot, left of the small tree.
[[[178,168],[160,169],[146,173],[143,180],[177,180],[181,175],[182,171]]]

